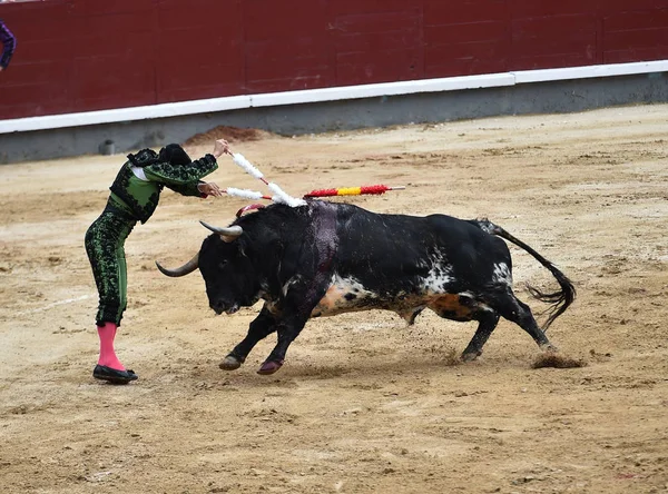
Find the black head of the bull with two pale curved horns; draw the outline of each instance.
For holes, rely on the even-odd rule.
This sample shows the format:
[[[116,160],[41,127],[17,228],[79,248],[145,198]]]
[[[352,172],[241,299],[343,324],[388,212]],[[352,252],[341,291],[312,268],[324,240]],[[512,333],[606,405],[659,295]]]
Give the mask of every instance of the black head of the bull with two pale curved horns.
[[[199,223],[216,235],[205,238],[199,253],[183,266],[167,269],[156,261],[158,269],[164,275],[179,277],[199,268],[209,306],[216,314],[234,314],[242,306],[254,305],[259,298],[259,279],[239,239],[244,230],[238,225],[219,228]]]

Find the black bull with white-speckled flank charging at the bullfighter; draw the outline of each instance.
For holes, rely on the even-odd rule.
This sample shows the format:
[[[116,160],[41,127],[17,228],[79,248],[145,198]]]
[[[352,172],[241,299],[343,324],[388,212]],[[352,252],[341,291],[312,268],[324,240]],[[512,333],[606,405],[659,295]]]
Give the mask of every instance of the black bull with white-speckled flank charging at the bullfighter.
[[[199,254],[167,276],[199,268],[210,307],[233,314],[261,298],[265,304],[220,368],[238,368],[253,347],[276,332],[277,344],[259,368],[273,374],[289,344],[312,317],[386,309],[409,324],[429,307],[446,319],[477,320],[462,358],[472,360],[504,317],[540,348],[553,350],[544,330],[573,302],[571,281],[527,244],[488,220],[445,215],[381,215],[347,204],[313,200],[272,205],[214,231]],[[552,273],[560,289],[530,294],[550,304],[541,329],[512,290],[512,260],[502,237]]]

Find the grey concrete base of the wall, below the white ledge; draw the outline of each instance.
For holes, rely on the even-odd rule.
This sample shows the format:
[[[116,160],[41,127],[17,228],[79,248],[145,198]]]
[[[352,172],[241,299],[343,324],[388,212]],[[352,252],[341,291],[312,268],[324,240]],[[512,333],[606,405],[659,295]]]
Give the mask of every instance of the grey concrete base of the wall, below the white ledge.
[[[217,126],[279,135],[318,134],[502,115],[564,113],[668,102],[668,72],[525,83],[502,88],[248,108],[156,120],[0,135],[0,164],[125,154],[183,142]],[[112,141],[112,145],[109,142]]]

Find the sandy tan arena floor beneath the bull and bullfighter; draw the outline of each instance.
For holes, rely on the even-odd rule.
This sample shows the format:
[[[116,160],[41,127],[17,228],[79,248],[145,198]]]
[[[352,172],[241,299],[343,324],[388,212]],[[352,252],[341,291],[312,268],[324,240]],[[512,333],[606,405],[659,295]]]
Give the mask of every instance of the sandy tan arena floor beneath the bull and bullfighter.
[[[668,106],[259,137],[234,149],[293,195],[403,185],[350,200],[488,216],[527,241],[577,286],[549,336],[583,366],[533,368],[508,322],[462,364],[474,324],[369,312],[311,322],[274,376],[255,373],[273,337],[220,370],[259,306],[215,316],[198,274],[154,260],[189,259],[198,219],[247,202],[166,190],[126,244],[117,352],[140,379],[101,384],[84,233],[124,158],[0,166],[0,492],[668,492]],[[229,158],[209,178],[264,190]],[[511,251],[540,313],[522,286],[553,278]]]

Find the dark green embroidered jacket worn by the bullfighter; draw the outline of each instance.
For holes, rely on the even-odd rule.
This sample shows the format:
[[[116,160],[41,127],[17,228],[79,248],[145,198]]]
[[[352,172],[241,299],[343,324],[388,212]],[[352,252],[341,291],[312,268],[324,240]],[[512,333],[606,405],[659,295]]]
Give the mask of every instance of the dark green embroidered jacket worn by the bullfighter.
[[[141,168],[147,180],[137,177],[131,167],[131,161],[127,161],[118,171],[109,187],[109,202],[144,224],[156,210],[163,187],[184,196],[206,197],[197,186],[203,184],[203,177],[218,168],[218,164],[213,155],[205,155],[188,165],[147,165]]]

